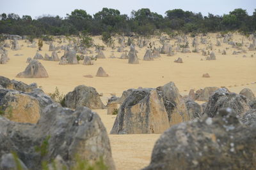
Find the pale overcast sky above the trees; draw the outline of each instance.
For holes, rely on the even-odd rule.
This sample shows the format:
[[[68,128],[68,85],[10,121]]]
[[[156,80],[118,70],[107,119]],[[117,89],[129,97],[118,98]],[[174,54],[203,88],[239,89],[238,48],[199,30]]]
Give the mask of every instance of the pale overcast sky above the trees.
[[[17,13],[20,17],[31,15],[33,18],[48,14],[65,17],[75,9],[86,10],[93,15],[104,7],[114,8],[128,16],[132,10],[141,8],[149,8],[163,16],[165,11],[177,8],[201,12],[204,16],[208,13],[223,15],[236,8],[243,8],[252,15],[256,8],[256,0],[0,0],[0,4],[0,13]]]

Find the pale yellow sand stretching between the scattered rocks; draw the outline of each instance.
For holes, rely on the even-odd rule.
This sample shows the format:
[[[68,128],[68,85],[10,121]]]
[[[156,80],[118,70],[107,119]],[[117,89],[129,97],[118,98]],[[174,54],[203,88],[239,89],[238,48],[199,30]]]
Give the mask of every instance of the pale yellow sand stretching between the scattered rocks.
[[[244,39],[244,45],[248,46],[247,38],[239,34],[234,35],[233,41],[241,42]],[[102,44],[99,37],[95,39],[96,44]],[[200,38],[198,38],[199,42]],[[211,34],[208,39],[212,44],[216,44],[216,34]],[[160,46],[159,41],[153,38],[156,46]],[[175,40],[171,40],[170,44],[174,45]],[[189,45],[192,39],[189,38]],[[138,48],[138,57],[140,64],[128,64],[128,60],[109,59],[111,48],[106,48],[104,54],[107,59],[97,59],[93,66],[84,66],[83,61],[79,65],[61,66],[59,62],[40,60],[43,64],[49,78],[15,78],[15,76],[24,71],[26,59],[34,57],[37,48],[29,48],[28,43],[24,40],[19,41],[23,45],[21,50],[8,50],[10,61],[7,64],[0,65],[0,75],[8,78],[23,81],[25,83],[38,83],[45,92],[53,92],[55,87],[60,89],[60,92],[67,94],[72,91],[77,85],[86,85],[95,87],[99,93],[103,93],[102,101],[107,102],[111,93],[116,96],[121,96],[122,92],[131,88],[138,87],[158,87],[168,83],[175,82],[179,88],[180,94],[188,94],[190,89],[200,89],[204,87],[227,87],[231,92],[239,93],[243,88],[248,87],[256,94],[256,55],[255,51],[247,53],[239,53],[232,55],[234,48],[230,45],[221,42],[221,46],[214,45],[216,60],[205,60],[202,53],[175,53],[173,57],[161,54],[159,59],[153,61],[144,61],[143,56],[146,48]],[[58,43],[54,43],[58,45]],[[204,48],[205,45],[200,45]],[[221,55],[221,51],[227,49],[227,55]],[[245,50],[248,50],[243,46]],[[193,48],[190,48],[191,51]],[[51,56],[49,45],[44,43],[42,52],[43,56],[48,53]],[[94,48],[92,48],[94,52]],[[129,47],[125,48],[129,51]],[[237,51],[237,50],[236,50]],[[14,56],[15,54],[23,54],[22,56]],[[122,53],[114,52],[115,57],[120,57]],[[63,51],[58,53],[59,57],[63,55]],[[95,53],[93,53],[95,55]],[[243,57],[246,55],[246,57]],[[254,57],[251,57],[253,55]],[[178,57],[181,57],[183,62],[178,64],[173,62]],[[204,60],[200,60],[204,59]],[[97,69],[102,66],[109,74],[107,78],[95,77]],[[202,78],[202,74],[209,73],[211,78]],[[92,74],[93,78],[84,78],[83,75]],[[102,122],[106,126],[108,132],[111,131],[115,115],[106,115],[107,110],[95,110],[99,113]],[[109,135],[113,158],[117,169],[140,169],[147,166],[150,162],[150,155],[154,143],[159,138],[160,134],[136,134],[136,135]]]

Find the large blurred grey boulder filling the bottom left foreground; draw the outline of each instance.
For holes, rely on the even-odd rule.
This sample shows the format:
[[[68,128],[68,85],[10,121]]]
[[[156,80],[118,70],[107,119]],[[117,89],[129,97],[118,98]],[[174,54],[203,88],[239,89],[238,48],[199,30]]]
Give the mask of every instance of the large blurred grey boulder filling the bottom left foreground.
[[[0,157],[17,153],[28,169],[42,169],[42,162],[63,160],[70,168],[80,160],[102,158],[115,169],[106,129],[97,113],[86,107],[75,111],[52,104],[45,108],[37,124],[18,124],[0,118]]]

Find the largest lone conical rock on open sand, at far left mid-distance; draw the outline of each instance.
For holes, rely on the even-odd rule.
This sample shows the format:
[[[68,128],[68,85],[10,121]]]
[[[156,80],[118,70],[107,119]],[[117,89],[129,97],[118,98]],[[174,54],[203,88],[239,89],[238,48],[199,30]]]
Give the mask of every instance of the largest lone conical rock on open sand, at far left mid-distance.
[[[31,60],[25,71],[17,74],[18,78],[47,78],[44,66],[38,60]]]

